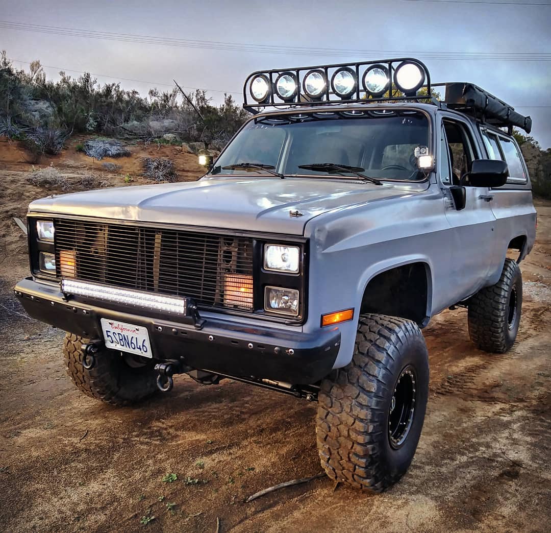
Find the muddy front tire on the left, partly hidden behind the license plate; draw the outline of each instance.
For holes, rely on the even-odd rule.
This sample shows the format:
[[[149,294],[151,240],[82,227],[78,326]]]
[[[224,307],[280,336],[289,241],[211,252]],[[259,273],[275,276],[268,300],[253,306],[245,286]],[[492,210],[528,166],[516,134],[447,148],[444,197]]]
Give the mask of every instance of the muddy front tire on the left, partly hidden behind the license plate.
[[[80,347],[87,342],[88,339],[73,333],[66,333],[63,341],[67,373],[78,390],[116,406],[138,402],[158,391],[153,368],[130,367],[119,352],[104,349],[96,354],[94,367],[85,369]]]

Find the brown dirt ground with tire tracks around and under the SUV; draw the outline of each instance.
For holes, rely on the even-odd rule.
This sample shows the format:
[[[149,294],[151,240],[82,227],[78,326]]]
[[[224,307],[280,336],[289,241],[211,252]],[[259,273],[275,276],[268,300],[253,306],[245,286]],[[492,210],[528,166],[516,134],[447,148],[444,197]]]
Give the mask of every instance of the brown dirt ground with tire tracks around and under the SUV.
[[[218,518],[221,532],[551,530],[551,202],[536,202],[537,243],[521,265],[525,298],[511,351],[474,348],[464,309],[424,330],[428,412],[397,486],[370,496],[334,490],[322,477],[245,503],[260,489],[320,472],[316,406],[187,376],[138,408],[80,394],[64,371],[63,333],[30,320],[12,296],[28,266],[11,217],[50,191],[26,184],[29,165],[6,153],[0,149],[0,529],[214,532]],[[182,168],[195,165],[174,155]],[[124,164],[136,165],[134,157]],[[88,172],[89,161],[67,154],[53,162]],[[186,172],[192,179],[200,170]],[[164,482],[170,473],[176,480]]]

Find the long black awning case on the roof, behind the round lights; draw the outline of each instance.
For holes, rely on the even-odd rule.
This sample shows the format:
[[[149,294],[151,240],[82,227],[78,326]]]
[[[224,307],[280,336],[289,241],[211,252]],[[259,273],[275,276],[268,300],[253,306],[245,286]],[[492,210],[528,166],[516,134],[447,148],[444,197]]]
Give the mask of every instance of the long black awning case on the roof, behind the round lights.
[[[473,83],[443,83],[446,88],[444,103],[449,109],[460,111],[481,122],[507,127],[509,133],[517,126],[526,133],[532,131],[532,119],[515,111],[515,108],[496,98]],[[440,84],[433,87],[439,87]]]

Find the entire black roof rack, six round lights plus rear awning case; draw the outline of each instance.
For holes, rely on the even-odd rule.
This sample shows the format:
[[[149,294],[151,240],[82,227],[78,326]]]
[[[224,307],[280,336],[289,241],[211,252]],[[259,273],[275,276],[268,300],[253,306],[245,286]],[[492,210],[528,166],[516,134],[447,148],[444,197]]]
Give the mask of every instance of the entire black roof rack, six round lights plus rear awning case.
[[[444,100],[436,100],[434,87],[445,87]],[[425,94],[418,94],[424,88]],[[472,116],[481,122],[514,126],[526,133],[532,119],[515,111],[473,83],[430,83],[425,64],[413,57],[358,63],[279,68],[250,74],[243,87],[243,107],[252,114],[262,107],[309,107],[343,103],[429,101]]]

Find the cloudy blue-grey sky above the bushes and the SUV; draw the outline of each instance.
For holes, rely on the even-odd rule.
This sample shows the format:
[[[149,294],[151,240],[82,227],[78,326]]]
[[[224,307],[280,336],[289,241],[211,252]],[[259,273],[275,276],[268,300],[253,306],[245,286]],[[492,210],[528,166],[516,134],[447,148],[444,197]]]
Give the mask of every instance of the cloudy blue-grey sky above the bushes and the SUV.
[[[17,60],[17,67],[28,68],[23,62],[40,59],[48,66],[48,77],[54,79],[63,68],[73,76],[78,72],[69,69],[92,72],[102,83],[143,80],[146,83],[121,80],[122,87],[143,94],[155,85],[170,88],[172,78],[186,87],[240,93],[247,74],[259,69],[410,55],[425,61],[433,82],[476,83],[518,112],[531,115],[532,135],[543,148],[551,147],[551,0],[518,0],[512,5],[504,3],[515,0],[473,2],[0,0],[2,21],[253,45],[247,50],[230,50],[227,45],[223,50],[164,46],[60,35],[57,30],[40,33],[36,26],[21,31],[4,25],[0,49]],[[295,50],[259,52],[262,45]],[[301,47],[333,52],[296,50]],[[454,59],[441,59],[442,52]],[[436,53],[439,58],[434,57]],[[465,58],[477,53],[492,58]],[[504,59],[506,54],[518,53],[523,54],[522,60]],[[540,60],[530,60],[538,54]],[[218,103],[222,93],[210,95]],[[241,101],[240,94],[234,96]]]

